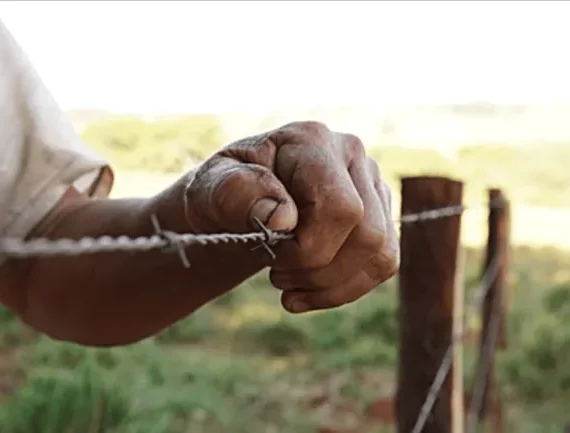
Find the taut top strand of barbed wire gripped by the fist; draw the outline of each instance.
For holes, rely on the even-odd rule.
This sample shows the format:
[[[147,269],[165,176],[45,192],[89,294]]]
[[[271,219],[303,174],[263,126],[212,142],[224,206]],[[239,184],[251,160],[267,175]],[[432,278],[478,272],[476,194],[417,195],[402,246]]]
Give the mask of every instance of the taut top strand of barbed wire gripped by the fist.
[[[430,209],[414,214],[406,214],[395,220],[396,223],[411,224],[421,221],[446,218],[462,214],[467,210],[463,205],[446,206]],[[469,208],[474,209],[474,208]],[[162,230],[156,218],[153,218],[155,234],[152,236],[101,236],[83,237],[81,239],[21,239],[15,237],[0,238],[0,255],[10,258],[29,258],[47,256],[77,256],[83,254],[108,252],[145,252],[165,250],[178,252],[184,265],[189,266],[183,253],[184,248],[191,245],[238,244],[256,242],[273,255],[270,246],[277,242],[293,238],[293,234],[267,229],[260,221],[260,231],[251,233],[175,233]]]

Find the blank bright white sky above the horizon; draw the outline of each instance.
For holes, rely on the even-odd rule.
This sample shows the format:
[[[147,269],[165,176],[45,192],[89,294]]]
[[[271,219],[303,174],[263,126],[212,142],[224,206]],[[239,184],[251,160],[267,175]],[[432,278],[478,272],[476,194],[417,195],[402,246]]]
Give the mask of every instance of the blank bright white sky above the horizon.
[[[570,2],[2,1],[0,16],[65,108],[570,102]]]

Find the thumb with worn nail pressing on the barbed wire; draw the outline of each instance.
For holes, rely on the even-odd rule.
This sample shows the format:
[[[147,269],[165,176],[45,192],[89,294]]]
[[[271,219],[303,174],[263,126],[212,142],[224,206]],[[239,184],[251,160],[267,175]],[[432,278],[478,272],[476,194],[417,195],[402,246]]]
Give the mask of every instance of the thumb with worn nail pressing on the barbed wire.
[[[213,158],[186,188],[186,216],[202,230],[257,230],[254,217],[273,230],[291,231],[297,207],[273,173],[257,164]]]

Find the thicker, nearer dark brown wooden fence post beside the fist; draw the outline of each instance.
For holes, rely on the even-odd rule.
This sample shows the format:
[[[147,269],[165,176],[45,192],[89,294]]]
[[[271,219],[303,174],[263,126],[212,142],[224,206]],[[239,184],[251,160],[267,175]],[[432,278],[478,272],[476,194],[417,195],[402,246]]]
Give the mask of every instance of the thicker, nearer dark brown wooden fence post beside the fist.
[[[433,176],[402,179],[402,215],[459,206],[463,184]],[[410,433],[449,349],[460,215],[402,223],[399,278],[400,351],[396,419]],[[453,367],[452,367],[453,369]],[[450,433],[453,380],[447,379],[422,433]]]

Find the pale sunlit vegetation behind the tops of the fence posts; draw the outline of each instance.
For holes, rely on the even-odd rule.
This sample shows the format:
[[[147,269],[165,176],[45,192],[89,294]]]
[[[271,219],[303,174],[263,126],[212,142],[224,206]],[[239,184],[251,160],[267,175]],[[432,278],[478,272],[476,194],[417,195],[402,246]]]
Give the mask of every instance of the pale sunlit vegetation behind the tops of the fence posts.
[[[454,157],[433,149],[375,146],[384,176],[396,185],[405,175],[441,174],[465,181],[467,201],[480,202],[489,187],[503,188],[518,204],[568,207],[570,146],[467,146]]]

